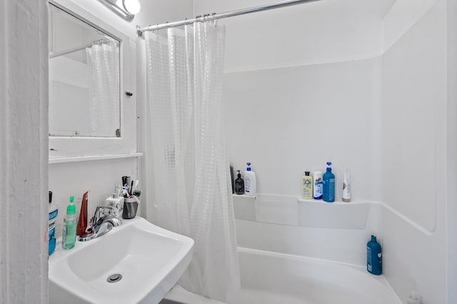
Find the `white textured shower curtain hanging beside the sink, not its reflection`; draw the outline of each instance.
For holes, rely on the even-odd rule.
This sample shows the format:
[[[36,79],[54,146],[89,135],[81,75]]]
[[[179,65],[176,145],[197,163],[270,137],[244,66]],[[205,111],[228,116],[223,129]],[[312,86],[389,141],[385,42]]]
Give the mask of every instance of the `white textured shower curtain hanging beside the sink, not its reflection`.
[[[179,283],[231,303],[240,280],[223,132],[225,28],[197,23],[166,34],[145,33],[147,190],[156,223],[195,240]]]

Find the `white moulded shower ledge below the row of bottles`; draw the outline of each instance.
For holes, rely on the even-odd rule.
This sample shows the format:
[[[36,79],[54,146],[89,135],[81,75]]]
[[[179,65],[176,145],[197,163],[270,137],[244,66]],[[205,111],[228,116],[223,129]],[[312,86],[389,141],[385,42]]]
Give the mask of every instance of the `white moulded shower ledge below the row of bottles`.
[[[288,226],[363,229],[370,209],[377,205],[370,201],[326,203],[262,193],[255,197],[233,195],[236,219]]]

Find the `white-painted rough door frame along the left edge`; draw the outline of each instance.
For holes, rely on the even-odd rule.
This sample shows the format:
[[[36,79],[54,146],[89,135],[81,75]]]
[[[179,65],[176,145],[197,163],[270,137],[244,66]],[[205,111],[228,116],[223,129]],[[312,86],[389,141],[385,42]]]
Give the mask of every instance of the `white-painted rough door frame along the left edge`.
[[[46,2],[1,1],[0,20],[0,303],[47,303]]]

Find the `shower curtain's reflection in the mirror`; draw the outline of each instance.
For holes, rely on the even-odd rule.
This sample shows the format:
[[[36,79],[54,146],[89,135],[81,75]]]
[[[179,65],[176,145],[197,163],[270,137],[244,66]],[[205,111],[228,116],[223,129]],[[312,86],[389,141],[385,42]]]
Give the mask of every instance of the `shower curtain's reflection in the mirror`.
[[[90,72],[89,121],[92,136],[116,136],[120,126],[119,41],[86,48]]]

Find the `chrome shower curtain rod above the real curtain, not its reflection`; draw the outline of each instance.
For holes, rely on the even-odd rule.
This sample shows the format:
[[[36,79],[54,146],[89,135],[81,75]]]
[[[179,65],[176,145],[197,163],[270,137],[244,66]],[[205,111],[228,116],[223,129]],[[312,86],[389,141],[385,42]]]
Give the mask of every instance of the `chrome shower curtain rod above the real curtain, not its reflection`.
[[[251,8],[248,8],[248,9],[238,9],[237,11],[226,11],[225,13],[220,13],[220,14],[216,14],[216,13],[206,14],[206,15],[203,15],[203,16],[196,16],[194,19],[186,19],[186,20],[183,20],[183,21],[167,22],[165,24],[156,24],[154,26],[144,26],[144,27],[136,26],[136,32],[138,33],[138,36],[142,36],[144,31],[156,31],[156,30],[159,30],[159,29],[168,29],[170,27],[184,26],[186,24],[193,24],[195,22],[223,19],[223,18],[228,18],[228,17],[233,17],[233,16],[256,13],[258,11],[268,11],[270,9],[280,9],[281,7],[293,6],[293,5],[297,5],[297,4],[305,4],[305,3],[308,3],[308,2],[315,2],[315,1],[320,1],[320,0],[291,0],[291,1],[283,1],[283,2],[278,2],[276,4],[270,4],[270,5],[265,5],[265,6],[256,6],[256,7],[251,7]]]

